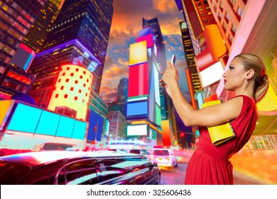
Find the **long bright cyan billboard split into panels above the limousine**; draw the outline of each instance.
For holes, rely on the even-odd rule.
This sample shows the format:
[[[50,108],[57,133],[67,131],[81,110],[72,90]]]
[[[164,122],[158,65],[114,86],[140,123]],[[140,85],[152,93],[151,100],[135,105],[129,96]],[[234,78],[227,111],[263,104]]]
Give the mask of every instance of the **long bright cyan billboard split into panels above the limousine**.
[[[18,103],[7,131],[85,139],[87,122]]]

